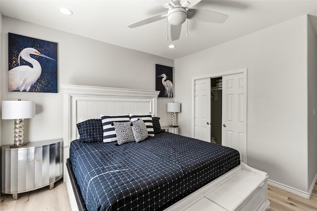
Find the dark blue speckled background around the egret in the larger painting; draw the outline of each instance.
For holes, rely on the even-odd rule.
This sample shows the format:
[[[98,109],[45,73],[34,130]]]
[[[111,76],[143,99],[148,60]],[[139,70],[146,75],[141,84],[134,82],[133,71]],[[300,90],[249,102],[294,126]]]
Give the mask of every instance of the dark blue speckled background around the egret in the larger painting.
[[[41,56],[31,55],[36,59],[42,67],[42,73],[40,78],[31,85],[29,92],[53,92],[57,93],[57,43],[43,41],[35,38],[25,37],[22,35],[16,35],[9,33],[9,70],[19,65],[18,56],[22,49],[27,47],[33,47],[37,49],[41,54],[49,56],[51,59],[47,59]],[[20,65],[32,65],[20,58]],[[25,90],[24,90],[25,91]]]

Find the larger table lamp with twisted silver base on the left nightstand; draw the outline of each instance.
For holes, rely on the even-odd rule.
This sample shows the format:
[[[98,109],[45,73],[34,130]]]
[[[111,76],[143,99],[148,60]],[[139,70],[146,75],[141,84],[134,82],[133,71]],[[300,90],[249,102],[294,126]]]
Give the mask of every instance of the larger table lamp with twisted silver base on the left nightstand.
[[[2,101],[2,120],[14,120],[14,145],[21,147],[26,145],[23,140],[24,119],[35,117],[35,102],[19,100]]]

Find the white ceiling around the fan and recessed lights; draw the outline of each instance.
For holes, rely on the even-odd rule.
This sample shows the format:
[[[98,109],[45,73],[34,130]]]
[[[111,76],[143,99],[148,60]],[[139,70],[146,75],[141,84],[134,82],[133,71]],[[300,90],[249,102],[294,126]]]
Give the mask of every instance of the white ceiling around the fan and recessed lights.
[[[317,19],[317,0],[203,0],[193,8],[216,11],[229,18],[223,24],[188,20],[189,37],[185,22],[180,39],[172,42],[170,38],[166,41],[166,19],[134,29],[127,27],[165,12],[155,0],[1,0],[0,3],[4,16],[171,59],[304,14]],[[73,15],[61,14],[60,7],[71,9]],[[317,30],[316,25],[317,21]],[[169,49],[170,43],[176,48]]]

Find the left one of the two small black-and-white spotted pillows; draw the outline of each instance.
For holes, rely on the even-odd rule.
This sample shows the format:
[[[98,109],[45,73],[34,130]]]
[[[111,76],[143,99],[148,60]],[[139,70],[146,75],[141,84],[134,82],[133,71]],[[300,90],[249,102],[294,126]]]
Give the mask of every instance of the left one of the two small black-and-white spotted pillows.
[[[131,122],[113,122],[115,134],[117,135],[118,145],[128,143],[134,140]]]

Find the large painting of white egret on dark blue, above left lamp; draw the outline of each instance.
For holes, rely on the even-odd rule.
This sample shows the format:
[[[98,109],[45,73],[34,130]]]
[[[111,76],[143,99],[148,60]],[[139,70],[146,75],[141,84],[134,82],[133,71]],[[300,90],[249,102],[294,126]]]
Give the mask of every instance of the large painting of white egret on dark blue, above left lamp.
[[[57,93],[57,43],[8,34],[9,91]]]

